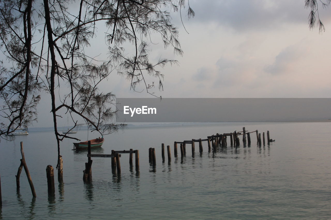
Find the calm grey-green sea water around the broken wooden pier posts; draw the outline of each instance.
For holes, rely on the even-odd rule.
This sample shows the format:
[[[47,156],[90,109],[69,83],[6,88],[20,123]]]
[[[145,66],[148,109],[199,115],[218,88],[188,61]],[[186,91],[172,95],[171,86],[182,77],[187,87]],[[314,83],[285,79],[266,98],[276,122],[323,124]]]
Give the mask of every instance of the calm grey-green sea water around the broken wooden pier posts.
[[[242,127],[270,131],[276,142],[218,148],[192,157],[173,157],[173,142],[207,138]],[[86,140],[86,130],[72,136]],[[91,132],[88,139],[95,138]],[[29,132],[0,143],[2,208],[0,219],[331,219],[331,123],[221,123],[217,125],[134,128],[106,136],[103,148],[139,150],[140,172],[122,154],[121,175],[112,174],[110,158],[94,158],[92,183],[83,183],[86,152],[74,153],[72,140],[62,143],[64,182],[55,178],[55,198],[47,195],[46,166],[56,166],[57,148],[51,131]],[[32,199],[24,170],[21,190],[15,175],[20,165],[20,141],[37,198]],[[161,158],[161,143],[170,145],[172,160]],[[156,148],[157,165],[148,162]],[[57,175],[55,175],[57,176]]]

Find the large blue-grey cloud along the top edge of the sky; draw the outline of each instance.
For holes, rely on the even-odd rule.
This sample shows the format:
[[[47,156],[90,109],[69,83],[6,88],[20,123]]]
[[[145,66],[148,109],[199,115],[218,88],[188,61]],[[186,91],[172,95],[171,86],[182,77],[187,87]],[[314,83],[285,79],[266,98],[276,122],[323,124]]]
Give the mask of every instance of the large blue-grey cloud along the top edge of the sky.
[[[196,0],[190,6],[196,12],[191,21],[216,22],[236,31],[274,30],[284,23],[307,25],[309,15],[303,0]],[[320,11],[323,22],[331,20],[331,13]]]

